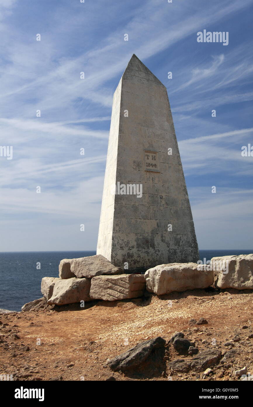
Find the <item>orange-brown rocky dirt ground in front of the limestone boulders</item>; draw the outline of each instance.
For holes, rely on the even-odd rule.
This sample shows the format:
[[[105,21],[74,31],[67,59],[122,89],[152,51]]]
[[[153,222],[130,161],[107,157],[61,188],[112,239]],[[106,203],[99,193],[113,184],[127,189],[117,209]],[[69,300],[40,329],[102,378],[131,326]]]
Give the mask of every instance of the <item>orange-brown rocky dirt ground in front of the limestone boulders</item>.
[[[252,291],[195,290],[117,302],[45,306],[30,312],[0,314],[0,374],[13,380],[240,380],[244,366],[253,375]],[[198,325],[205,318],[208,324]],[[175,372],[175,359],[191,361],[173,346],[156,352],[130,372],[112,372],[106,361],[141,341],[180,331],[199,352],[220,350],[211,372]],[[184,370],[184,369],[182,369]]]

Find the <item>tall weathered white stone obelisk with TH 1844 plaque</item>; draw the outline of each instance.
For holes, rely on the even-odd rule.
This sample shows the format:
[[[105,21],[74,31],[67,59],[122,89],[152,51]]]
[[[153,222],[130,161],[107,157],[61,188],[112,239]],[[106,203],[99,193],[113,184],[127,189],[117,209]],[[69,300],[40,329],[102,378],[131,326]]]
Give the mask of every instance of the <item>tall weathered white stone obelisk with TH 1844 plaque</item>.
[[[167,90],[136,55],[113,97],[97,254],[125,269],[199,259]]]

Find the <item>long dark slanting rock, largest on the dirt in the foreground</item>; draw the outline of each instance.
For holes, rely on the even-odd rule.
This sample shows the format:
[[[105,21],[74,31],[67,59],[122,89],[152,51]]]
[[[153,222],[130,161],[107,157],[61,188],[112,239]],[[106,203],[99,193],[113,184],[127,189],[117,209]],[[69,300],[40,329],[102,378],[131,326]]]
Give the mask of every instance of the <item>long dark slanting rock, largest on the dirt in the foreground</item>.
[[[141,365],[149,357],[152,350],[164,347],[165,342],[165,339],[161,337],[141,342],[119,356],[110,359],[105,366],[109,366],[114,371],[130,370]]]

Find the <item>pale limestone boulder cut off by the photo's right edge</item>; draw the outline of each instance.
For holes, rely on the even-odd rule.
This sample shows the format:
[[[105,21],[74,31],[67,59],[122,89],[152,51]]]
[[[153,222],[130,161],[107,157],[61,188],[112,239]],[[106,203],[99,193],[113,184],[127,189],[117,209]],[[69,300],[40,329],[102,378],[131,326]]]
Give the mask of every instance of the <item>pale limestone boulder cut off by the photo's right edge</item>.
[[[211,265],[216,287],[253,289],[253,254],[213,257]]]

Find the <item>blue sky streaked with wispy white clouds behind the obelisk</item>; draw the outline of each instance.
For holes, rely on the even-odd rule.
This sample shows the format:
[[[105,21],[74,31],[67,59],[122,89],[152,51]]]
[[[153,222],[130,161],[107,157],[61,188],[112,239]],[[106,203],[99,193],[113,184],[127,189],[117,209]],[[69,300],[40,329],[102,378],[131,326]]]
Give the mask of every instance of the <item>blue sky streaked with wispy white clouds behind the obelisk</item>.
[[[167,86],[199,248],[251,249],[252,13],[252,0],[1,0],[13,159],[0,157],[0,251],[95,250],[112,96],[133,53]],[[198,43],[204,29],[229,44]]]

